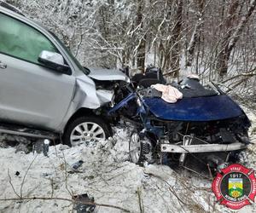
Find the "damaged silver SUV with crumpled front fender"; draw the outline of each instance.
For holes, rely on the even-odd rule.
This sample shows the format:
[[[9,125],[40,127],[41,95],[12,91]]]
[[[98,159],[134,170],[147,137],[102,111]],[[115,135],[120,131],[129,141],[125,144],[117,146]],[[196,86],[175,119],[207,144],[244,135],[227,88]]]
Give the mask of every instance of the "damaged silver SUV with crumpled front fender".
[[[0,122],[63,135],[68,145],[111,135],[102,106],[113,89],[96,82],[126,81],[123,72],[80,65],[54,33],[0,6]]]

